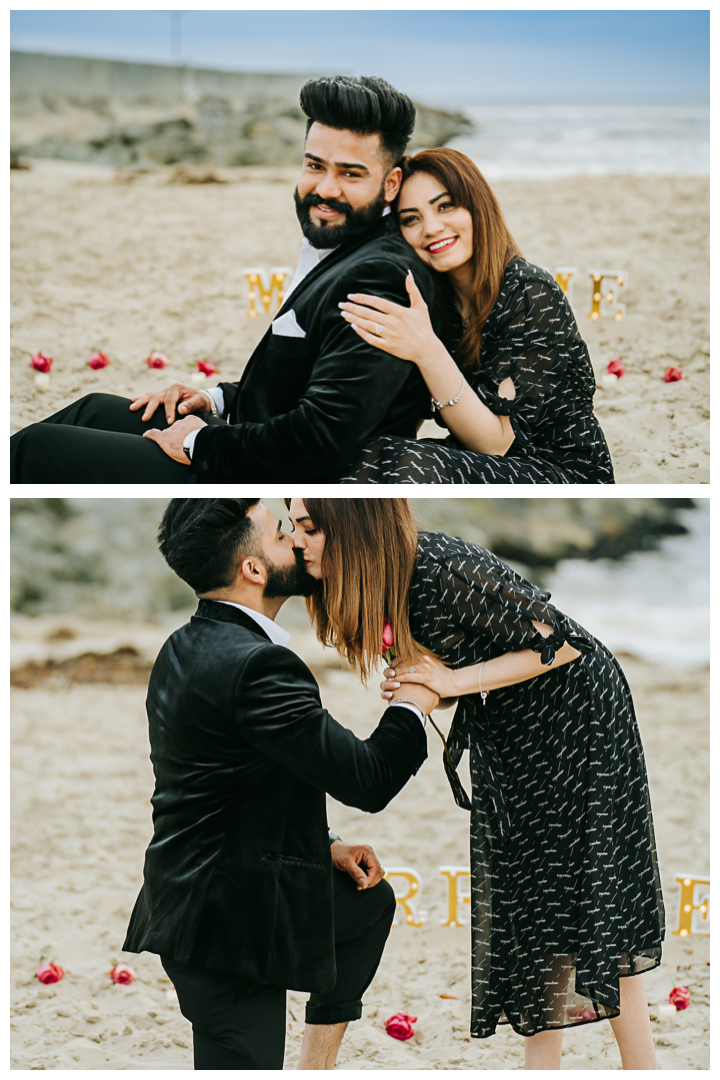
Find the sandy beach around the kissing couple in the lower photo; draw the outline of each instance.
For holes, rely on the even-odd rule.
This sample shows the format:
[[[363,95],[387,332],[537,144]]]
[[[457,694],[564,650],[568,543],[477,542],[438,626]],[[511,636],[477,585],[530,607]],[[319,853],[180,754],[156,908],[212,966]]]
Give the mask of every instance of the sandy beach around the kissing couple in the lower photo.
[[[228,310],[231,298],[228,288]],[[142,669],[169,629],[68,616],[13,621],[13,667],[25,673],[15,680],[24,678],[28,687],[13,690],[15,1069],[191,1068],[190,1026],[158,958],[121,953],[151,835]],[[364,691],[309,630],[300,623],[290,629],[290,646],[311,664],[327,707],[367,735],[382,707],[377,684]],[[136,650],[135,683],[71,680],[67,664],[72,658],[123,647]],[[708,869],[708,675],[631,658],[622,662],[646,746],[668,908],[664,962],[648,976],[660,1067],[707,1069],[709,939],[680,939],[670,931],[678,917],[674,878]],[[84,671],[87,677],[87,662]],[[449,714],[437,718],[447,727]],[[467,864],[468,819],[452,801],[439,740],[433,732],[429,740],[429,760],[382,814],[328,806],[331,826],[347,839],[372,843],[385,867],[419,872],[418,908],[426,913],[423,926],[393,930],[365,997],[364,1016],[351,1026],[338,1067],[521,1068],[522,1040],[510,1028],[487,1040],[468,1037],[470,935],[466,928],[439,926],[447,904],[438,874],[440,865]],[[63,982],[38,983],[33,973],[41,956],[65,968]],[[132,986],[113,986],[106,974],[120,960],[137,971]],[[675,985],[690,987],[691,1005],[673,1017],[661,1016],[657,1007]],[[288,996],[286,1068],[297,1062],[303,1000],[300,994]],[[408,1042],[384,1031],[385,1020],[398,1011],[418,1016]],[[610,1025],[566,1032],[563,1068],[620,1068]]]

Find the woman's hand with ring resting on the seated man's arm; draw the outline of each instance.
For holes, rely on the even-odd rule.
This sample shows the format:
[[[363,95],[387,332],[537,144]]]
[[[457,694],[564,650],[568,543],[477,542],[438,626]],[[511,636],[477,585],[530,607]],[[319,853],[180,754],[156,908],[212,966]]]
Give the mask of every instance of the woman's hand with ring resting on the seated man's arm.
[[[364,293],[351,293],[349,302],[339,307],[364,341],[422,368],[446,349],[433,329],[427,305],[409,270],[405,285],[410,297],[409,308]]]

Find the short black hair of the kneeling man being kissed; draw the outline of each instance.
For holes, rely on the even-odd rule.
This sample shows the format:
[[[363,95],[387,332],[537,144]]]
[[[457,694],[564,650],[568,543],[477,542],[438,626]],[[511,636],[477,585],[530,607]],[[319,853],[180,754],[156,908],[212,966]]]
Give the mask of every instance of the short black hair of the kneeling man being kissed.
[[[171,499],[158,543],[165,562],[199,595],[234,583],[243,555],[257,554],[259,499]]]

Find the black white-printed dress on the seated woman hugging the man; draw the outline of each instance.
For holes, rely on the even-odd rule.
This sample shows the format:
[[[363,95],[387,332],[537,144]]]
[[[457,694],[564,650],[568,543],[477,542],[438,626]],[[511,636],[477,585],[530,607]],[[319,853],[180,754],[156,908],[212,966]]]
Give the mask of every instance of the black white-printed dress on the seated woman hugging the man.
[[[462,336],[457,316],[451,353]],[[498,387],[510,376],[514,401]],[[504,457],[447,438],[382,435],[361,454],[342,484],[613,484],[608,444],[593,413],[595,375],[566,296],[546,270],[522,258],[505,270],[483,329],[467,383],[515,441]],[[436,414],[445,427],[441,413]]]

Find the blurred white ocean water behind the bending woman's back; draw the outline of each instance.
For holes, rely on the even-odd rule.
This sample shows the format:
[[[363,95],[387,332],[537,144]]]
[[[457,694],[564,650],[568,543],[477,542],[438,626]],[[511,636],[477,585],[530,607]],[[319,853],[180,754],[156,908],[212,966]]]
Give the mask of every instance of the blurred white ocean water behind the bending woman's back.
[[[553,603],[613,652],[682,667],[710,662],[710,500],[683,511],[684,536],[622,559],[563,559]]]

